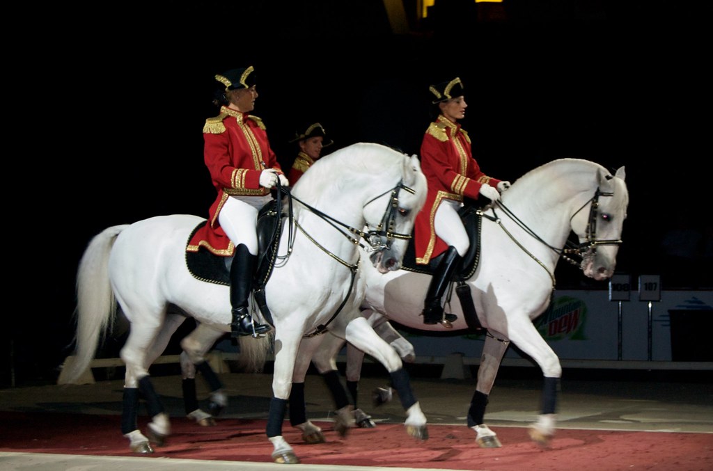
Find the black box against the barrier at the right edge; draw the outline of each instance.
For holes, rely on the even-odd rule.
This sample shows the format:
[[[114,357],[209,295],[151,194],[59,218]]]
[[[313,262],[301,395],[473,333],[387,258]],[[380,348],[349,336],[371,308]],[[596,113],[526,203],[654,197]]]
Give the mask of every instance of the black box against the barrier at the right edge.
[[[713,309],[669,309],[671,359],[713,361]]]

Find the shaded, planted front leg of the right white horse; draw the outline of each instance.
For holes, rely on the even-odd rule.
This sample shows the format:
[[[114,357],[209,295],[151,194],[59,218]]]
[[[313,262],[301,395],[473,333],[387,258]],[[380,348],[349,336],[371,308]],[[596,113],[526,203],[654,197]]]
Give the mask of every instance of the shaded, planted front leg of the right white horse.
[[[478,366],[476,392],[473,393],[471,407],[468,409],[468,427],[475,430],[476,442],[481,448],[502,446],[496,433],[484,423],[484,417],[488,405],[488,395],[493,389],[498,369],[509,345],[509,341],[492,336],[490,333],[486,335],[486,341],[483,344],[481,363]]]

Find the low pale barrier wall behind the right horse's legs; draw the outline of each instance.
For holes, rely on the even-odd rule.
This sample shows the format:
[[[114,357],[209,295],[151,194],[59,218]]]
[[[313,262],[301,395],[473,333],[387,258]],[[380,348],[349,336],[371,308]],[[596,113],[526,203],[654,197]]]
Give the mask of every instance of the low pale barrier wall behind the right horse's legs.
[[[661,291],[660,301],[639,301],[637,292],[631,293],[630,301],[609,299],[609,291],[555,291],[553,309],[535,320],[535,325],[560,360],[672,361],[669,311],[699,311],[708,326],[713,320],[713,291]],[[459,352],[466,358],[478,358],[483,346],[482,335],[434,338],[401,333],[414,345],[417,356]],[[702,332],[701,339],[709,338],[710,333]],[[506,358],[522,356],[511,346]]]

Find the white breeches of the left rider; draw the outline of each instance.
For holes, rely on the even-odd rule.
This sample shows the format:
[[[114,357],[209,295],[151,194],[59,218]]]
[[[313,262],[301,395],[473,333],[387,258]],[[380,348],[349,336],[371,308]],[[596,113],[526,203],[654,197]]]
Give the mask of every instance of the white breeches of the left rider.
[[[231,196],[225,200],[218,222],[235,247],[245,244],[250,254],[257,255],[257,212],[270,200],[272,195]]]

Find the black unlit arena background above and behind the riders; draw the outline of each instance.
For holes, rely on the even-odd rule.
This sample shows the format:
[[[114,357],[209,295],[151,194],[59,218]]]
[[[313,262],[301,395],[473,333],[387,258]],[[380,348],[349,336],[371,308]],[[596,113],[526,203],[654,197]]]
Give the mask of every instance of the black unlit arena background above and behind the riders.
[[[13,317],[0,384],[58,374],[91,237],[159,214],[207,215],[201,129],[217,114],[214,76],[248,65],[254,113],[285,169],[296,154],[287,140],[309,119],[335,141],[329,152],[368,141],[418,153],[429,84],[460,76],[462,124],[488,175],[514,181],[559,157],[623,165],[618,271],[661,274],[664,289],[713,287],[702,247],[684,259],[661,247],[677,224],[711,231],[709,3],[437,0],[421,21],[416,1],[403,4],[408,28],[396,32],[379,0],[110,1],[8,16],[38,41],[11,42],[18,85],[6,89],[24,103],[11,160],[31,202],[16,202],[14,220],[34,248],[29,261],[11,257],[34,266],[12,276],[31,307]],[[607,289],[564,262],[557,279]]]

